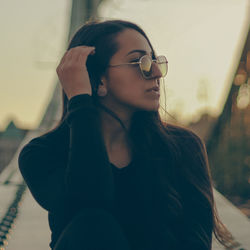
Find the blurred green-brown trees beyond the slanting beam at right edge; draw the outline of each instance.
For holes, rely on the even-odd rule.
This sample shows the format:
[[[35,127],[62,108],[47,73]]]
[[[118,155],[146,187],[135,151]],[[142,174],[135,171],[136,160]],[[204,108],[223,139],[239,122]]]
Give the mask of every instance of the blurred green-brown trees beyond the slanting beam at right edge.
[[[250,197],[250,34],[207,151],[215,187],[228,198]]]

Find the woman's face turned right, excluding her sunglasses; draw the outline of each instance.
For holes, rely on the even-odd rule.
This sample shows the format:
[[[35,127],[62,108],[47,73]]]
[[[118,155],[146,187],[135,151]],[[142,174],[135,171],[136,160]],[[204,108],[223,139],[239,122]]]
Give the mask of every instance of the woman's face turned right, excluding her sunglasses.
[[[116,42],[118,51],[111,58],[110,65],[135,62],[145,54],[152,57],[148,41],[136,30],[124,30],[117,35]],[[152,78],[147,80],[143,78],[138,64],[109,67],[105,77],[102,78],[108,90],[103,102],[113,111],[119,109],[157,111],[159,95],[148,89],[159,87],[161,73],[155,63],[152,67]]]

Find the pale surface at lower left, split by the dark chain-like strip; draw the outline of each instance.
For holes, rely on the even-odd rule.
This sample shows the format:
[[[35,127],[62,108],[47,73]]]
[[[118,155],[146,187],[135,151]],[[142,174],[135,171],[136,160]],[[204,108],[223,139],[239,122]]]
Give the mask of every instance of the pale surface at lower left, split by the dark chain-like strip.
[[[22,146],[35,135],[30,132],[21,143],[10,164],[0,175],[0,221],[16,197],[18,184],[23,178],[18,169],[17,157]],[[6,181],[9,184],[5,185]],[[28,188],[19,203],[19,212],[9,234],[6,250],[49,250],[50,230],[47,211],[33,199]],[[0,249],[2,250],[1,246]]]

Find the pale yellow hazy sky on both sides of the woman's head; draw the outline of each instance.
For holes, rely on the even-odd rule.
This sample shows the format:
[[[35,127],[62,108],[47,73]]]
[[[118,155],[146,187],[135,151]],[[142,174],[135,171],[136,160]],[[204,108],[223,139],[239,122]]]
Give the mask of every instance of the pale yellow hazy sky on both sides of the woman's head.
[[[169,61],[167,109],[187,124],[225,102],[245,39],[247,0],[104,0],[101,19],[123,18],[145,29]],[[71,1],[2,1],[0,129],[40,123],[57,80]]]

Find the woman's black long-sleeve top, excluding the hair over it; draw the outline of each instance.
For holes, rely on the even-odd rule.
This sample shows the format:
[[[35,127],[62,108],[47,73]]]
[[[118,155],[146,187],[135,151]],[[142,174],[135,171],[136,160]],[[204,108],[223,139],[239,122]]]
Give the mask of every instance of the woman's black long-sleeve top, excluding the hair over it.
[[[169,249],[171,244],[163,227],[163,222],[167,223],[164,216],[167,211],[156,179],[159,163],[153,158],[135,156],[122,169],[111,164],[98,114],[90,95],[74,96],[68,102],[67,117],[61,128],[33,138],[19,155],[19,168],[33,197],[48,211],[52,231],[50,247],[54,247],[63,229],[82,208],[98,207],[117,218],[131,249]],[[179,144],[192,148],[191,154],[195,156],[192,158],[188,150],[183,151],[182,162],[192,158],[188,159],[190,171],[197,169],[198,178],[206,178],[203,143],[199,139],[197,144],[193,139],[195,135],[187,130],[173,131],[181,139]],[[177,226],[178,249],[209,249],[203,247],[193,232],[200,220],[201,224],[208,224],[211,241],[211,211],[198,207],[200,197],[192,188],[183,184],[182,190],[187,205],[186,215]]]

